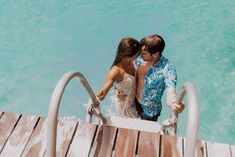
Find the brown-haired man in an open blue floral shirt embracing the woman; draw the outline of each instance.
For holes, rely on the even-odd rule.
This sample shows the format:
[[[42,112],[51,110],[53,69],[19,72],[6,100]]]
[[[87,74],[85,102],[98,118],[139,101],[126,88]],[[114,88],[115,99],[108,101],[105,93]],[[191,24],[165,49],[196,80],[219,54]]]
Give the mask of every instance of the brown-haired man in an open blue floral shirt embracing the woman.
[[[142,119],[157,121],[162,109],[161,97],[166,89],[167,105],[175,113],[184,109],[176,103],[176,70],[162,52],[165,47],[159,35],[149,35],[140,41],[141,55],[136,59],[136,107]],[[119,95],[122,99],[124,95]]]

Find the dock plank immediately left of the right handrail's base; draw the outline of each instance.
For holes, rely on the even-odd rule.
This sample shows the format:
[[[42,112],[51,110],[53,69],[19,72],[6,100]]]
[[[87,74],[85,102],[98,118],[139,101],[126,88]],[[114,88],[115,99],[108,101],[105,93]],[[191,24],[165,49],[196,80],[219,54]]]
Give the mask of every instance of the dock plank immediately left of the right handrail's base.
[[[161,136],[161,157],[183,157],[183,139],[176,136]]]

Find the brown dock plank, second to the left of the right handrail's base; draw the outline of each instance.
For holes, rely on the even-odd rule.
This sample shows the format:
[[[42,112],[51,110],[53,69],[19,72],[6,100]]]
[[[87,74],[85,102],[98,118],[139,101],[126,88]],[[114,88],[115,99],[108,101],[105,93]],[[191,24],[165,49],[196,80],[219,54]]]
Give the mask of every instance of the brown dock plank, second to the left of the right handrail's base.
[[[158,133],[140,132],[138,141],[138,157],[158,157],[160,135]],[[148,152],[148,153],[146,153]]]

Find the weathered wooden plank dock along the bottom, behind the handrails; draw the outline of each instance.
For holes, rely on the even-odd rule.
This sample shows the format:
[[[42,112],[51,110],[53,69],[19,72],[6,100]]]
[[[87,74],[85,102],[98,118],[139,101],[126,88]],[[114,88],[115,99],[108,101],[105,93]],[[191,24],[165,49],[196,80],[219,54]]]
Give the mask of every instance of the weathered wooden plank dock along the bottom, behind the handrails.
[[[46,156],[47,118],[0,111],[0,157]],[[75,120],[58,121],[58,157],[184,157],[185,139]],[[197,141],[196,155],[235,157],[235,146]]]

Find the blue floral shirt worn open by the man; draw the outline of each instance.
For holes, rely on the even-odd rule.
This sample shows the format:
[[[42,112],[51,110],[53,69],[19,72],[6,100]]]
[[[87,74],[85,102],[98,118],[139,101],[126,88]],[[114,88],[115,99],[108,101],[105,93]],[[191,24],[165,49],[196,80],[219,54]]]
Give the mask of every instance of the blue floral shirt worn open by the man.
[[[143,62],[142,56],[135,60],[137,68]],[[176,88],[177,75],[175,67],[164,56],[161,56],[158,63],[154,64],[147,72],[142,91],[143,114],[153,117],[160,114],[162,109],[161,98],[163,92],[168,87]]]

